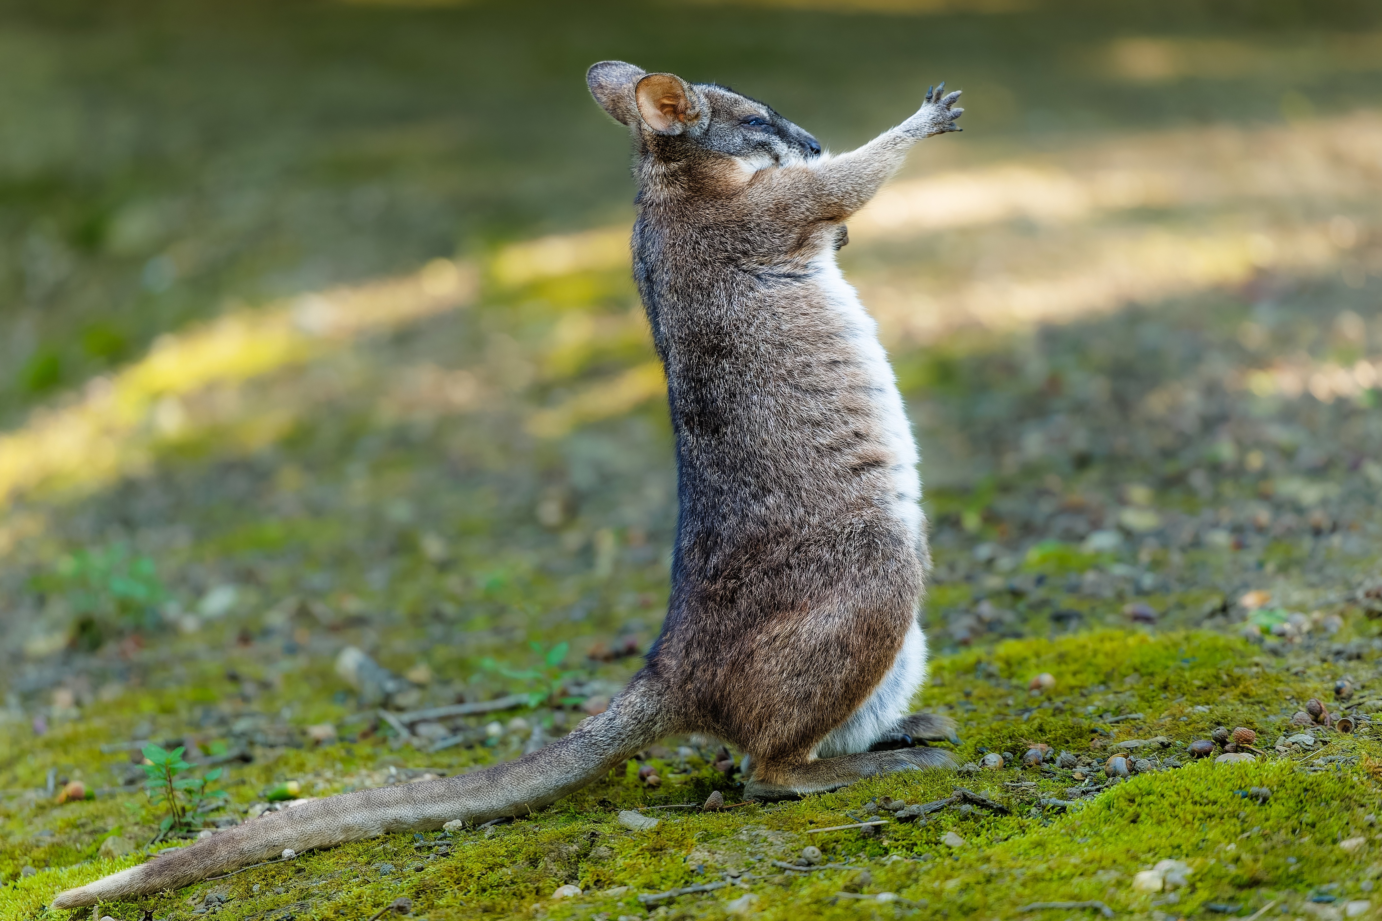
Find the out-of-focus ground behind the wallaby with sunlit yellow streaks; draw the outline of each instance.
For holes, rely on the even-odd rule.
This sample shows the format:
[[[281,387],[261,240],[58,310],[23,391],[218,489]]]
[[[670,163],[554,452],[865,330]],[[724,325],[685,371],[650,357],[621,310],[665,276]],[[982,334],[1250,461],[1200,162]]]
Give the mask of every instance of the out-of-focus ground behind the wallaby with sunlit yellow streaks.
[[[346,646],[415,706],[630,674],[674,469],[605,58],[835,151],[963,88],[842,253],[938,649],[1374,632],[1312,610],[1382,523],[1375,3],[4,0],[4,786],[122,700],[344,719]]]

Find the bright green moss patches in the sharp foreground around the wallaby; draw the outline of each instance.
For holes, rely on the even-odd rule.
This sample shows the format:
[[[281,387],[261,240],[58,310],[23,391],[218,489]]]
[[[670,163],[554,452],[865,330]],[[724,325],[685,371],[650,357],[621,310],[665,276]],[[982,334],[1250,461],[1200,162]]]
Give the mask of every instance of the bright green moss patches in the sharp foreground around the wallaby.
[[[210,671],[210,666],[206,668]],[[1056,686],[1030,692],[1028,681],[1049,672]],[[192,685],[198,678],[189,675]],[[676,773],[676,759],[652,759],[665,777],[658,790],[638,784],[630,769],[609,777],[510,826],[455,837],[428,833],[398,834],[312,852],[289,863],[257,867],[224,882],[203,882],[187,891],[104,906],[117,918],[138,917],[149,907],[159,918],[191,918],[188,899],[213,886],[228,886],[231,899],[220,909],[225,921],[239,918],[359,917],[406,895],[415,913],[431,918],[531,917],[585,918],[596,911],[634,913],[638,893],[662,892],[723,878],[726,871],[750,874],[742,884],[712,893],[684,896],[666,911],[670,917],[721,917],[726,904],[745,892],[757,895],[756,909],[767,918],[854,917],[857,899],[832,904],[842,886],[868,892],[897,892],[926,903],[923,915],[945,911],[963,915],[1010,917],[1019,906],[1042,900],[1097,899],[1119,913],[1146,913],[1153,895],[1132,889],[1130,878],[1161,859],[1186,860],[1190,886],[1177,893],[1175,910],[1193,913],[1208,902],[1247,909],[1278,899],[1298,904],[1318,886],[1336,884],[1339,898],[1365,898],[1376,870],[1364,845],[1345,852],[1338,841],[1367,835],[1364,816],[1379,806],[1379,788],[1370,772],[1382,758],[1368,735],[1328,736],[1316,753],[1278,755],[1271,740],[1285,726],[1294,704],[1324,696],[1331,667],[1317,660],[1269,660],[1256,648],[1212,632],[1150,637],[1104,631],[1060,639],[1023,639],[990,649],[969,649],[940,657],[933,681],[923,692],[926,708],[952,712],[962,724],[959,761],[977,759],[984,750],[1021,754],[1028,744],[1095,755],[1092,746],[1124,739],[1168,736],[1175,743],[1202,737],[1215,725],[1242,725],[1258,730],[1263,761],[1227,765],[1200,761],[1179,769],[1133,776],[1068,812],[1039,808],[1038,799],[1068,799],[1077,782],[1067,770],[1012,768],[956,776],[922,772],[878,777],[832,794],[797,802],[745,805],[716,815],[695,809],[648,812],[661,819],[650,833],[618,824],[619,808],[699,804],[714,788],[737,802],[737,788],[699,757]],[[312,719],[346,715],[321,700],[322,685],[301,672],[283,688],[283,700],[299,699]],[[35,787],[50,766],[64,773],[94,765],[101,741],[124,737],[133,721],[146,712],[170,714],[167,724],[189,719],[196,695],[146,690],[113,701],[101,717],[62,724],[46,736],[29,737],[25,755],[6,759],[7,787]],[[265,700],[265,707],[278,700]],[[308,706],[310,704],[310,706]],[[1104,712],[1143,714],[1107,724]],[[304,715],[304,718],[307,718]],[[17,751],[28,730],[6,730]],[[1183,750],[1172,748],[1184,761]],[[1161,753],[1166,754],[1166,753]],[[495,757],[511,757],[509,751]],[[1342,757],[1317,765],[1320,758]],[[405,747],[392,751],[384,739],[365,739],[321,748],[287,748],[252,765],[235,765],[227,775],[234,808],[254,802],[271,783],[297,779],[314,794],[336,793],[359,782],[365,772],[388,764],[463,770],[488,761],[492,753],[453,748],[423,754]],[[1096,766],[1093,776],[1103,779]],[[908,802],[951,795],[963,784],[1010,809],[962,813],[944,809],[926,822],[891,822],[876,837],[857,830],[807,835],[813,827],[853,822],[865,802],[880,794]],[[1259,804],[1244,793],[1267,787]],[[104,875],[138,857],[97,857],[101,841],[119,831],[135,841],[152,837],[155,812],[135,793],[105,793],[94,801],[55,805],[43,798],[10,799],[0,848],[0,917],[30,917],[55,892]],[[951,849],[948,831],[965,840]],[[36,833],[51,833],[41,834]],[[791,860],[806,844],[820,845],[832,862],[858,870],[826,870],[799,878],[784,877],[771,860]],[[451,851],[438,856],[437,845]],[[381,864],[391,864],[392,871]],[[39,870],[19,877],[23,866]],[[868,870],[872,882],[858,884]],[[851,882],[853,881],[853,882]],[[553,900],[551,892],[575,884],[591,895]],[[257,886],[257,889],[256,889]],[[601,895],[629,886],[619,895]],[[279,891],[282,889],[282,891]],[[882,911],[890,911],[879,906]]]

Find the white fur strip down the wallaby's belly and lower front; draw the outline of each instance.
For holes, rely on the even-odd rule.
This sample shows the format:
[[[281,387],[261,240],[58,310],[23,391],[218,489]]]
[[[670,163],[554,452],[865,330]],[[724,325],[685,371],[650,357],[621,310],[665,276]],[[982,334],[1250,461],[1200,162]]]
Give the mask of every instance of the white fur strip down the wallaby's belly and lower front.
[[[820,284],[846,320],[860,362],[868,370],[875,387],[875,418],[883,446],[893,458],[889,507],[907,530],[916,536],[916,548],[922,552],[922,481],[916,474],[916,440],[912,438],[912,427],[902,409],[902,395],[897,389],[893,366],[887,362],[883,344],[878,341],[878,323],[864,309],[854,287],[844,280],[835,262],[833,250],[822,253],[817,266]],[[821,740],[815,755],[832,758],[868,751],[884,732],[911,712],[912,697],[923,681],[926,681],[926,637],[914,620],[902,641],[902,649],[883,681],[842,726]]]

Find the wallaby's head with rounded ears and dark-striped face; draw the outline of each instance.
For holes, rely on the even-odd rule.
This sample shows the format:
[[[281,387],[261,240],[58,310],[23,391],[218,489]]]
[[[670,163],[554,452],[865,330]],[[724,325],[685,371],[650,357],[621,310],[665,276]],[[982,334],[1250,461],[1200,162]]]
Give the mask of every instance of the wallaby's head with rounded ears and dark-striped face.
[[[815,138],[770,106],[714,83],[601,61],[586,84],[605,112],[638,134],[640,151],[658,159],[702,153],[781,166],[821,155]]]

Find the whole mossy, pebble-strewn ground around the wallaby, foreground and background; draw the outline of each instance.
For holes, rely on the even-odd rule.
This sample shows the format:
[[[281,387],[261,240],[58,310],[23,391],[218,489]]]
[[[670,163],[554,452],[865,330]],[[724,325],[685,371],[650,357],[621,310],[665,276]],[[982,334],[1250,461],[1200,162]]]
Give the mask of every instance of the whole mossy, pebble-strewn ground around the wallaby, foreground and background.
[[[1382,707],[1382,8],[978,6],[0,4],[0,917],[144,859],[162,816],[122,743],[224,762],[210,819],[231,822],[287,780],[517,757],[524,730],[491,718],[580,717],[456,719],[467,744],[433,753],[336,675],[347,645],[413,675],[401,707],[532,690],[486,660],[560,642],[574,697],[632,674],[614,653],[658,630],[676,483],[626,138],[579,79],[608,57],[731,80],[836,149],[933,80],[965,88],[966,133],[923,145],[842,251],[923,454],[918,706],[959,722],[962,764],[1165,736],[1184,766],[738,805],[710,750],[666,740],[656,788],[630,766],[513,824],[102,913],[363,920],[406,895],[438,921],[641,917],[638,895],[731,871],[652,914],[1371,900],[1374,726],[1274,743],[1310,697]],[[1260,759],[1190,762],[1219,725]],[[50,779],[95,795],[58,805]],[[1010,813],[807,834],[956,784]],[[713,790],[734,808],[616,822]],[[101,856],[116,838],[135,852]],[[773,864],[806,844],[849,869]],[[1162,859],[1190,885],[1135,891]]]

